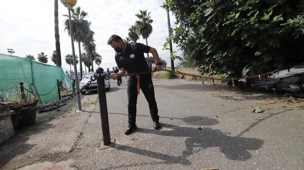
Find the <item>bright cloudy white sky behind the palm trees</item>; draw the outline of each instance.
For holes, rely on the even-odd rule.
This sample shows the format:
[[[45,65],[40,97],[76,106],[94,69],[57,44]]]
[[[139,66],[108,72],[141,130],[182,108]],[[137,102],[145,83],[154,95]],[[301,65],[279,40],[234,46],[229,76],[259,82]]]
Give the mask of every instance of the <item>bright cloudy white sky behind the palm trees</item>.
[[[128,29],[137,20],[135,14],[139,13],[139,10],[145,9],[151,12],[150,16],[154,21],[152,23],[154,31],[148,38],[148,45],[156,48],[159,56],[170,66],[170,58],[168,58],[170,52],[162,50],[162,45],[168,37],[167,14],[165,9],[160,7],[162,3],[162,0],[78,0],[76,6],[80,6],[81,10],[88,12],[86,19],[92,22],[91,29],[95,32],[97,52],[102,56],[101,67],[111,69],[116,66],[115,51],[107,45],[109,37],[117,34],[125,39]],[[70,66],[64,61],[64,56],[72,53],[71,38],[67,32],[64,32],[65,18],[62,16],[68,14],[68,11],[60,0],[58,5],[62,68],[70,70]],[[171,27],[175,28],[176,20],[172,14],[170,19]],[[10,48],[16,51],[14,53],[16,56],[25,57],[26,54],[31,54],[37,58],[38,53],[44,52],[48,55],[47,64],[54,65],[50,60],[52,51],[56,50],[54,0],[1,1],[0,25],[0,53],[8,54],[7,48]],[[137,42],[146,43],[142,37]],[[74,45],[75,53],[78,54],[78,44],[74,43]],[[173,46],[173,50],[177,50],[175,45]],[[81,52],[83,51],[84,49],[81,47]],[[97,68],[96,64],[94,68]],[[79,64],[77,69],[79,71]]]

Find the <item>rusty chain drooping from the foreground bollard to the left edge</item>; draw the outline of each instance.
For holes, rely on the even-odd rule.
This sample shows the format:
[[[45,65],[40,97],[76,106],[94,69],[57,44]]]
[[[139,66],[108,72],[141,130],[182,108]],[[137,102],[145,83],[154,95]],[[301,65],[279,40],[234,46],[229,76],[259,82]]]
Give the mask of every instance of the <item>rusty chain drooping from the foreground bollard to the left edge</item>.
[[[90,85],[93,81],[96,80],[96,76],[97,76],[97,73],[95,73],[92,76],[94,78],[91,77],[91,80],[85,86],[83,86],[81,89],[79,89],[77,92],[75,92],[73,95],[69,96],[67,99],[61,100],[60,102],[55,102],[54,104],[45,105],[45,106],[36,106],[36,107],[22,107],[22,106],[15,106],[15,105],[8,105],[8,104],[5,104],[5,103],[0,103],[0,106],[6,106],[6,107],[9,107],[9,108],[20,109],[20,110],[26,110],[26,109],[28,109],[28,110],[30,110],[30,109],[41,110],[41,109],[46,109],[46,108],[49,108],[49,107],[52,107],[52,106],[59,106],[60,103],[66,102],[67,100],[70,100],[73,97],[75,97],[76,95],[78,95],[83,89],[85,89],[88,85]]]

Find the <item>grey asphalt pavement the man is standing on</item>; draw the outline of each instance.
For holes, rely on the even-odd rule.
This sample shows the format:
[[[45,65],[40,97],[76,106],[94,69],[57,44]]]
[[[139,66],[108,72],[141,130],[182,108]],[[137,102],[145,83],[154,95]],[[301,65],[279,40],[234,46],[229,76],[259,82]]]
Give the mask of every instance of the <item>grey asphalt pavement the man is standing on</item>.
[[[217,83],[153,79],[161,129],[140,91],[127,127],[126,85],[106,92],[112,148],[102,147],[98,103],[37,123],[0,146],[2,169],[303,169],[304,102]],[[82,102],[96,99],[90,92]],[[284,100],[285,99],[285,100]],[[75,101],[74,101],[75,102]],[[257,106],[263,113],[251,113]],[[297,110],[294,108],[300,108]],[[75,110],[76,108],[74,108]],[[81,134],[79,132],[82,132]],[[42,140],[41,140],[42,139]],[[46,141],[49,140],[49,141]],[[18,141],[18,142],[17,142]]]

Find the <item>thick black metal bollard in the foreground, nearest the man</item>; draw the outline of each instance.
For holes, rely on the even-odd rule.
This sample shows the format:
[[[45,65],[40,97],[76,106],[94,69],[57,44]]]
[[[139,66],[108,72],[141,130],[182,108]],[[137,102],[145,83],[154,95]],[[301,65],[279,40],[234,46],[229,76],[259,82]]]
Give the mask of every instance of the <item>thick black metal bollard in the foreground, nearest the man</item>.
[[[111,143],[111,139],[110,139],[107,99],[105,96],[105,76],[103,69],[100,67],[96,69],[96,73],[97,73],[96,80],[97,80],[97,90],[98,90],[98,98],[99,98],[103,144],[109,145]]]

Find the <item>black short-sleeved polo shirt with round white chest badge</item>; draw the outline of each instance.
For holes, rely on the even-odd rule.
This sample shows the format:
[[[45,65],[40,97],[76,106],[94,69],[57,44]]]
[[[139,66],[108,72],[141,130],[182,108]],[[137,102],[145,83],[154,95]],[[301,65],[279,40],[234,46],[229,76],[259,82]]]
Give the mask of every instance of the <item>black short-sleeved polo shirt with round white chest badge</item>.
[[[148,53],[150,46],[143,43],[126,43],[125,53],[115,53],[115,61],[118,68],[124,67],[128,73],[149,71],[149,67],[143,53]]]

